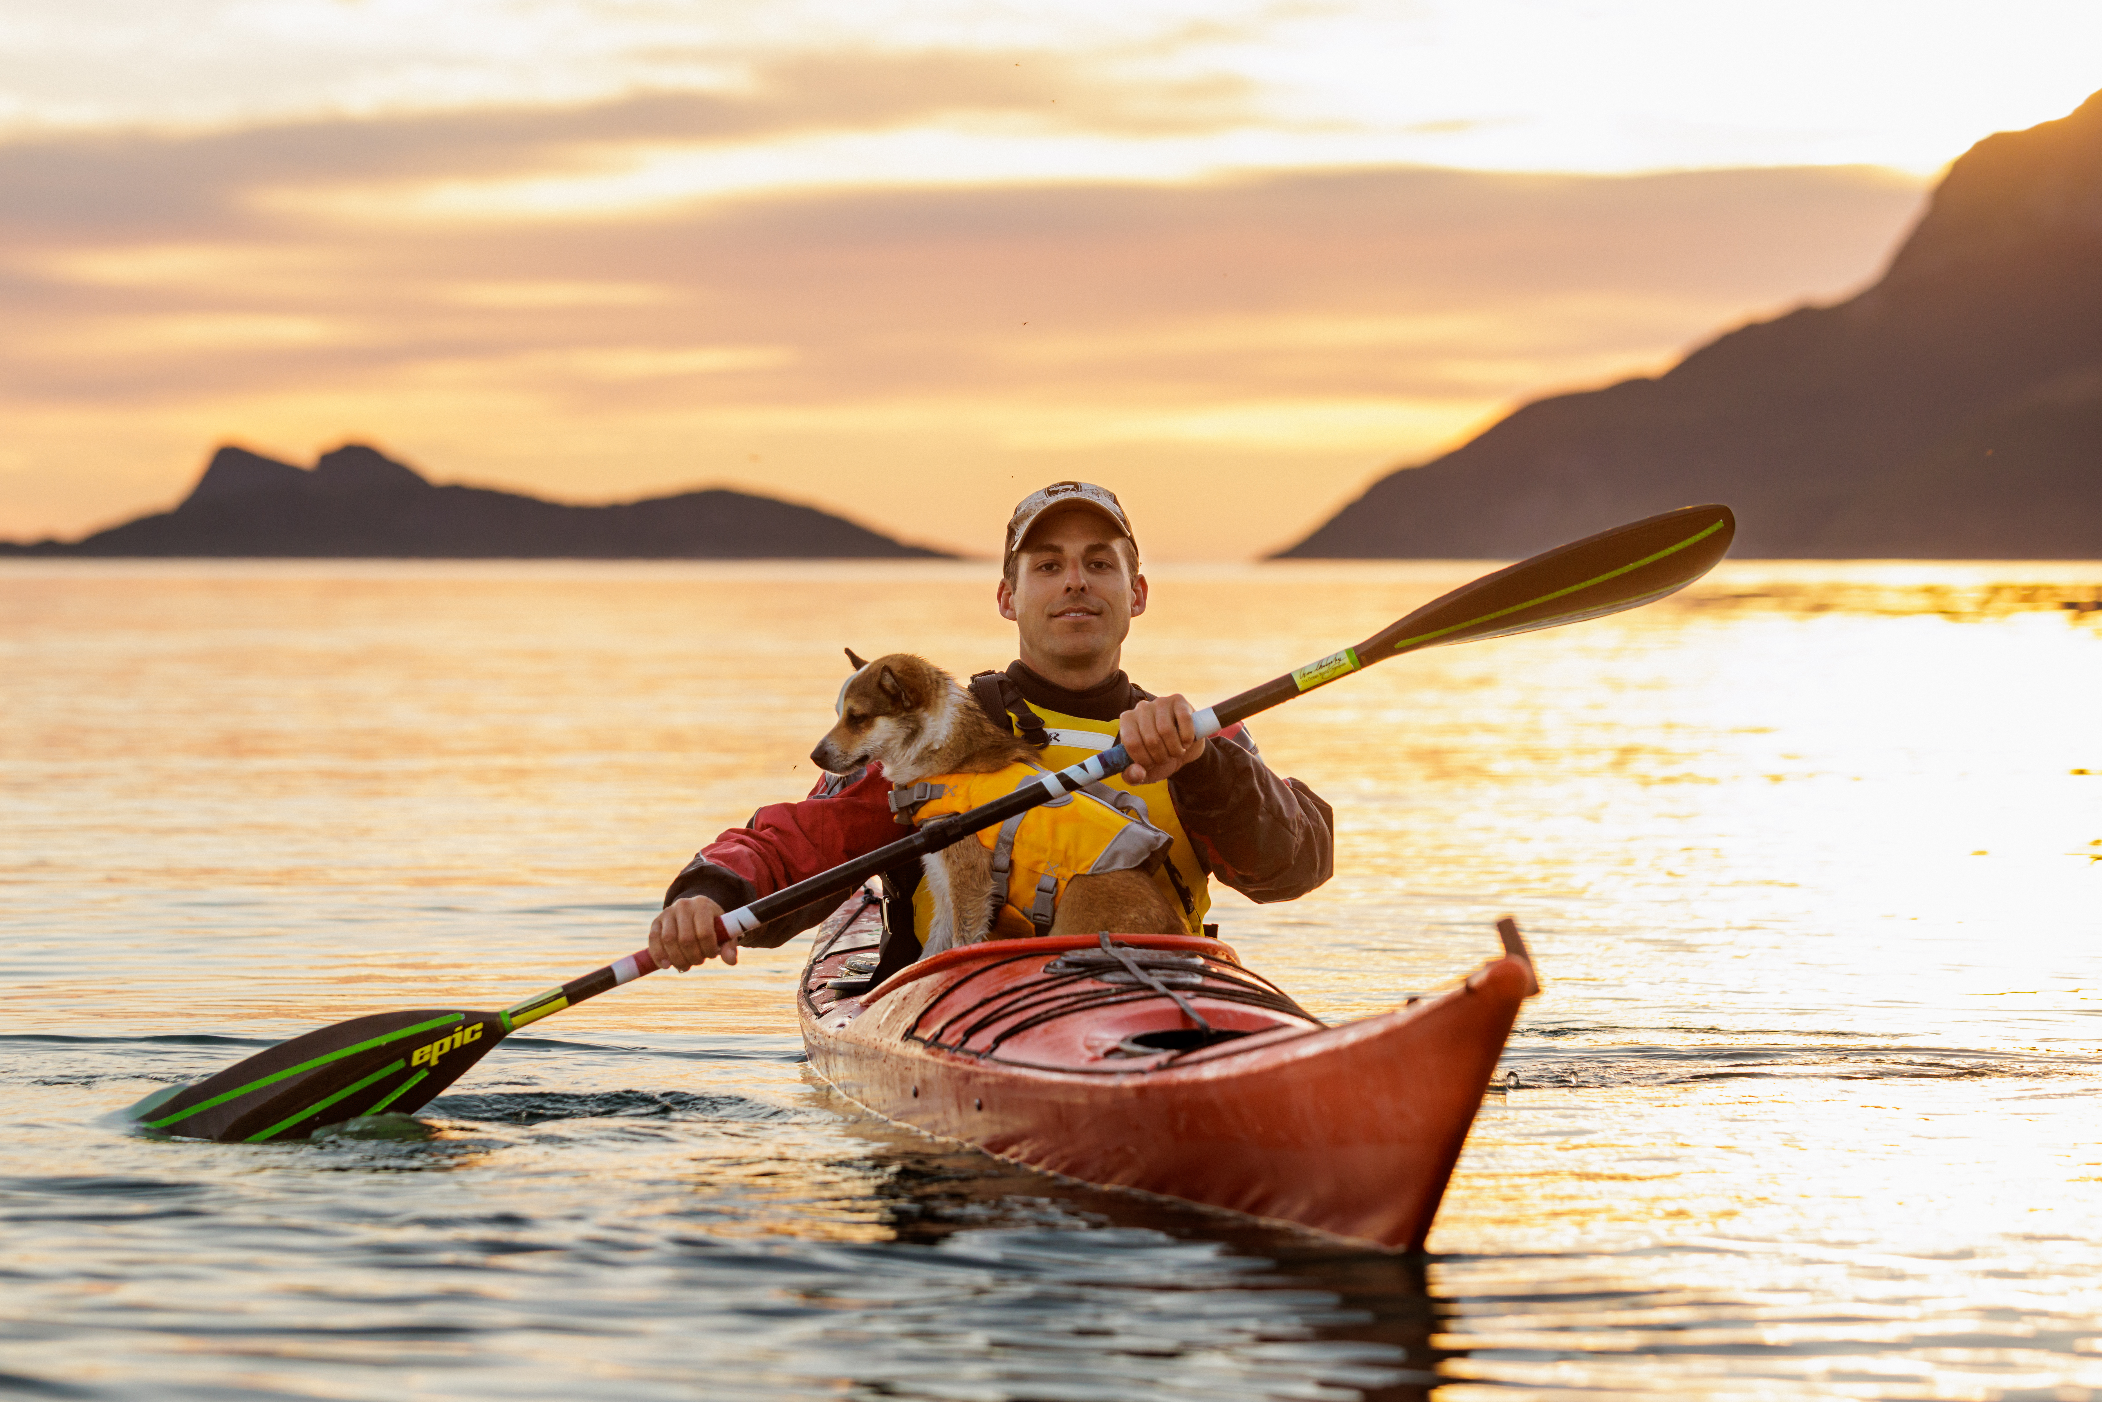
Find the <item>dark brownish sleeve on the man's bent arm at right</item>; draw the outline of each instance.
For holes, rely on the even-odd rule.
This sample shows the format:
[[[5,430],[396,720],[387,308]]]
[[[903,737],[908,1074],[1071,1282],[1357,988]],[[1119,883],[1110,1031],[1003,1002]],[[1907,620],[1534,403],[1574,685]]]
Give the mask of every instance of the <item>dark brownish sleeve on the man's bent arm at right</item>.
[[[1213,736],[1169,797],[1204,864],[1249,900],[1299,900],[1335,874],[1335,811],[1265,765],[1244,725]]]

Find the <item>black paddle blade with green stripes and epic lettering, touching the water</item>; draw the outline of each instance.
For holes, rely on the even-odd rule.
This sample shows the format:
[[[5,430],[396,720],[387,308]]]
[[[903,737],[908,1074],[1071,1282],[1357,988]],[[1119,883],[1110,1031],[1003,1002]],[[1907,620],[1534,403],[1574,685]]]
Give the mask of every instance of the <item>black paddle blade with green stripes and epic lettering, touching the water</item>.
[[[420,1009],[351,1017],[147,1095],[143,1129],[221,1143],[305,1139],[362,1114],[414,1114],[504,1040],[502,1013]]]

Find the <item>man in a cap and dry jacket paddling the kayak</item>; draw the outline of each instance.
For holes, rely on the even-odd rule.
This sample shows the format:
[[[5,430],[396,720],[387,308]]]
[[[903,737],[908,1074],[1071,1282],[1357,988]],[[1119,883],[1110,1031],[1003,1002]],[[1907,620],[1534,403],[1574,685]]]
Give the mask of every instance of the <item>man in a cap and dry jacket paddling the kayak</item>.
[[[1122,673],[1125,635],[1146,612],[1139,547],[1116,496],[1085,481],[1032,492],[1007,523],[996,601],[1013,620],[1022,658],[1005,673],[980,673],[971,692],[992,717],[1043,748],[1062,769],[1118,738],[1131,767],[1108,782],[1146,801],[1169,832],[1169,879],[1192,933],[1211,906],[1209,877],[1259,902],[1295,900],[1333,870],[1335,816],[1299,780],[1272,774],[1246,729],[1211,740],[1181,696],[1150,696]],[[700,849],[664,893],[650,925],[660,967],[689,969],[717,948],[715,916],[816,877],[904,837],[891,813],[881,765],[826,776],[801,803],[776,803]],[[885,935],[877,975],[919,956],[931,906],[919,864],[883,877]],[[822,921],[826,900],[746,931],[738,944],[771,948]]]

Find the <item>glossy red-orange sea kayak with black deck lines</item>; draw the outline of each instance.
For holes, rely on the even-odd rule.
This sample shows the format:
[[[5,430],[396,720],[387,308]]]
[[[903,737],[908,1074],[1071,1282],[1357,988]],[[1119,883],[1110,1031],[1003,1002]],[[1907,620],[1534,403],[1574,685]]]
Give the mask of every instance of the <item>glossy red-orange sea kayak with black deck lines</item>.
[[[811,1068],[910,1129],[1085,1183],[1419,1251],[1518,1007],[1518,927],[1461,986],[1326,1026],[1219,940],[944,950],[868,988],[881,906],[828,919],[797,996]]]

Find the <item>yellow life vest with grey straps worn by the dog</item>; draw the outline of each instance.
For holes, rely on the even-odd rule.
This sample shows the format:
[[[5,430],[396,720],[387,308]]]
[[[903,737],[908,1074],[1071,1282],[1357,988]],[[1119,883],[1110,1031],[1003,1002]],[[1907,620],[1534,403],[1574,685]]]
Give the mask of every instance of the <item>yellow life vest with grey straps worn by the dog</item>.
[[[1013,763],[992,774],[937,774],[919,784],[900,786],[891,795],[893,811],[910,811],[914,824],[944,813],[967,813],[994,799],[1005,799],[1024,784],[1045,776],[1036,765]],[[992,889],[998,908],[992,912],[992,937],[1017,940],[1051,931],[1066,883],[1093,872],[1146,870],[1162,862],[1173,839],[1146,822],[1135,803],[1118,805],[1114,795],[1089,790],[1070,792],[1051,803],[1038,803],[996,828],[980,828],[973,837],[992,853]],[[921,883],[927,893],[927,883]],[[919,914],[921,900],[914,900]],[[931,916],[931,900],[927,902]],[[927,925],[919,929],[927,937]],[[927,950],[933,954],[935,950]]]

